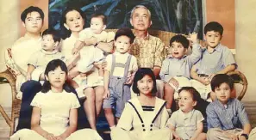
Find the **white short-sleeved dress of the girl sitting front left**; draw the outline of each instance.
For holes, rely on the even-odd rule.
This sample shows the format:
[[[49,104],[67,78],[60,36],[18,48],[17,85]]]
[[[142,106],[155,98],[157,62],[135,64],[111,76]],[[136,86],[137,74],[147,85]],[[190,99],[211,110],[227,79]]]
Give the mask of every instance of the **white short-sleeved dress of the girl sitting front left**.
[[[80,107],[77,96],[73,93],[67,93],[63,90],[62,93],[53,93],[49,91],[47,93],[37,93],[31,102],[31,106],[41,108],[41,120],[40,126],[43,130],[52,133],[54,136],[59,136],[66,131],[69,123],[70,110]],[[88,140],[102,140],[97,134],[97,131],[91,129],[84,129],[75,131],[66,140],[73,139],[74,137],[80,137],[83,139],[88,137]],[[35,131],[22,129],[17,131],[10,140],[45,140],[40,134]]]

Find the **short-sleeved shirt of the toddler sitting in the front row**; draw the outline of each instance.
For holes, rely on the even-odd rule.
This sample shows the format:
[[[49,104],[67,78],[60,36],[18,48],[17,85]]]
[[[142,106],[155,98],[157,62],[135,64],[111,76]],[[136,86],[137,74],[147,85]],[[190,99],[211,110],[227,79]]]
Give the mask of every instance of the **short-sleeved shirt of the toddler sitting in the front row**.
[[[167,125],[175,127],[178,136],[183,139],[190,139],[197,131],[197,124],[203,121],[203,115],[198,110],[193,109],[190,113],[183,113],[180,109],[172,113]]]

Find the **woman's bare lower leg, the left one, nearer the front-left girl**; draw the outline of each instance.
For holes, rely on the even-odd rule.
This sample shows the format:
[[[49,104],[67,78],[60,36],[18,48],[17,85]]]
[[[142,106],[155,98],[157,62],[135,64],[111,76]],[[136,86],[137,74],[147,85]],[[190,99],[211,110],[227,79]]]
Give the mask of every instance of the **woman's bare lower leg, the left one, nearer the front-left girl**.
[[[95,92],[93,88],[85,88],[86,100],[84,101],[84,111],[89,121],[91,129],[96,130],[96,113],[95,113]]]

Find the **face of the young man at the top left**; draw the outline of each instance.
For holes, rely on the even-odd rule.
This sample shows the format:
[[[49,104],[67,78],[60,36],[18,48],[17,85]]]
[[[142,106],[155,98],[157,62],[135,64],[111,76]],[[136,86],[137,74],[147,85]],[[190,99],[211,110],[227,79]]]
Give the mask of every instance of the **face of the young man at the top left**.
[[[23,27],[26,28],[28,33],[40,33],[43,21],[41,15],[38,12],[28,13],[24,22],[22,22]]]

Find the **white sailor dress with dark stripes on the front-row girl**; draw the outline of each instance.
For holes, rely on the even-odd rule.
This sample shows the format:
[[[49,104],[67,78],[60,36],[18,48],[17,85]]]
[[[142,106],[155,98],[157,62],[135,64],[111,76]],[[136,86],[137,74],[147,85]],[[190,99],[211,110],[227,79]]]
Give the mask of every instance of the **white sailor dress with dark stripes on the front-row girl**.
[[[165,100],[157,97],[152,115],[145,113],[138,98],[128,100],[118,121],[111,131],[112,140],[170,140],[172,133],[165,127],[169,114]]]

